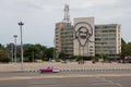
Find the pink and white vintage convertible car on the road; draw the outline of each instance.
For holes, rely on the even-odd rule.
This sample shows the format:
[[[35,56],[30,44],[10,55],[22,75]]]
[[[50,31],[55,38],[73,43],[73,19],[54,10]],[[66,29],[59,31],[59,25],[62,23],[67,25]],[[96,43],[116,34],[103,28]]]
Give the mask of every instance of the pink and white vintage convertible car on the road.
[[[47,67],[40,67],[39,71],[40,73],[59,73],[60,69],[53,66],[47,66]]]

